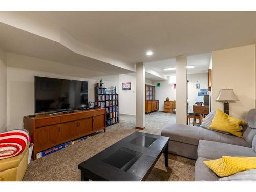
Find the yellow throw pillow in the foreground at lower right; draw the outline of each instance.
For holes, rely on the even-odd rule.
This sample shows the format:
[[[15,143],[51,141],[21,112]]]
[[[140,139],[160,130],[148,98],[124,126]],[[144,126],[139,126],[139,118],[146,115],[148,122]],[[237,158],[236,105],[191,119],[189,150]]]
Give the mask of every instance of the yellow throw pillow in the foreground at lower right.
[[[233,175],[244,170],[256,168],[256,157],[222,156],[220,159],[204,161],[214,173],[220,177]]]

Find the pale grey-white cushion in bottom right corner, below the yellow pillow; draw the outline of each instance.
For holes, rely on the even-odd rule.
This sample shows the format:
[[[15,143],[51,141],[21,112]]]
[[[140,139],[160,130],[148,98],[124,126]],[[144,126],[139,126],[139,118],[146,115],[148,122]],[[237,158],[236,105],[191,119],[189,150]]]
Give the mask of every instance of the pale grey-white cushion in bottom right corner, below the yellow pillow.
[[[228,177],[222,177],[219,181],[256,181],[256,169],[245,170]]]

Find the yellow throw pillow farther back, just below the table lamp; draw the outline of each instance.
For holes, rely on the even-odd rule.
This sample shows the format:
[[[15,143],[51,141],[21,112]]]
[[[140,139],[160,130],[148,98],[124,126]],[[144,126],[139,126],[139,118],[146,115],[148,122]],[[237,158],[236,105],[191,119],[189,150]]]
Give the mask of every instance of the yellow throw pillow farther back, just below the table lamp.
[[[214,118],[212,119],[210,128],[213,130],[229,132],[238,137],[243,137],[241,131],[243,129],[242,126],[245,124],[245,121],[231,117],[218,109]]]

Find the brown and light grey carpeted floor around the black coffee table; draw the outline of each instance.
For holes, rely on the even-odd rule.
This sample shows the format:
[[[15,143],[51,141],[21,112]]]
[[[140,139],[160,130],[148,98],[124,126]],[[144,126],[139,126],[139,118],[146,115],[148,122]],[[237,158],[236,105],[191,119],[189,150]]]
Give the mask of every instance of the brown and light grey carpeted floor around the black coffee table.
[[[146,129],[143,132],[160,135],[169,123],[175,123],[175,115],[155,112],[145,116]],[[32,161],[23,178],[24,181],[79,181],[78,164],[92,157],[106,147],[131,134],[135,129],[135,116],[120,115],[120,122],[99,131],[90,139],[68,146],[63,150]],[[194,181],[195,161],[169,154],[169,168],[164,166],[162,155],[147,181]]]

